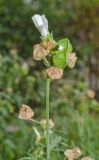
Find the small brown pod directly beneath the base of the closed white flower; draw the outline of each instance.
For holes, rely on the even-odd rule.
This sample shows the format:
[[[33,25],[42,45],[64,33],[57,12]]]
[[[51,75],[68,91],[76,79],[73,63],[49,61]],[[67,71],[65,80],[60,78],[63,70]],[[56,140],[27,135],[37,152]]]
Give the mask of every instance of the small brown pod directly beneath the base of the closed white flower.
[[[51,50],[55,46],[55,41],[53,39],[50,39],[49,41],[44,41],[42,43],[43,47],[47,50]]]

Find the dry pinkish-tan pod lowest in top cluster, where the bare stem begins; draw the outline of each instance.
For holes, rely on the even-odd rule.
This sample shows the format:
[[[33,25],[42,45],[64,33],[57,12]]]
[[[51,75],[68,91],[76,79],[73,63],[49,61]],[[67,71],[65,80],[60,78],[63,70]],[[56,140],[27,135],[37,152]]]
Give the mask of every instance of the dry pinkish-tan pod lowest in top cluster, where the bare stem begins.
[[[57,67],[50,67],[46,70],[50,79],[60,79],[63,75],[63,70]]]

